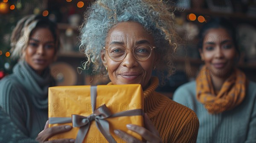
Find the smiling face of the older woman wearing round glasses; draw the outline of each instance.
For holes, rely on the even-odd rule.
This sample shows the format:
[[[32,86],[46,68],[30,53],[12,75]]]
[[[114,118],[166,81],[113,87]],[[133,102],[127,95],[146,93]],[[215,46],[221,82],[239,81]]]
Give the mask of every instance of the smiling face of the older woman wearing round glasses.
[[[145,44],[151,47],[151,55],[146,60],[137,60],[133,54],[134,46]],[[126,56],[121,61],[115,61],[109,57],[108,52],[113,46],[125,48]],[[153,49],[153,36],[146,31],[140,23],[122,22],[118,23],[108,32],[105,49],[102,50],[101,58],[108,75],[113,84],[141,84],[145,89],[151,78],[153,67],[157,64],[157,55]],[[114,52],[119,52],[115,50]],[[124,51],[124,52],[125,52]],[[145,52],[145,50],[138,50]],[[150,51],[148,51],[150,53]]]

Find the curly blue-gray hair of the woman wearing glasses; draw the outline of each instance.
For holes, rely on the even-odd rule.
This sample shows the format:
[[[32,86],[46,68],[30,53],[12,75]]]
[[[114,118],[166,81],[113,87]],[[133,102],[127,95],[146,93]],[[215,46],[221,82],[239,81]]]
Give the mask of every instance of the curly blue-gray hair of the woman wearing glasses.
[[[117,23],[134,21],[140,23],[154,37],[160,62],[157,74],[169,77],[172,74],[172,57],[177,47],[174,43],[174,14],[162,0],[97,0],[84,14],[84,23],[80,27],[80,50],[87,60],[81,69],[93,72],[104,71],[101,50],[105,46],[108,31]],[[168,74],[164,75],[164,71]]]

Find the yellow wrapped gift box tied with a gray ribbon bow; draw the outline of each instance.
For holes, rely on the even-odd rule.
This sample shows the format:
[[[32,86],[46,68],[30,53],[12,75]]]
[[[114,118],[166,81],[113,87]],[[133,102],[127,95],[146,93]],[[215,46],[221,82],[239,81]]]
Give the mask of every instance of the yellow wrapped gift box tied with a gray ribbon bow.
[[[143,100],[140,84],[50,87],[49,127],[73,126],[69,132],[51,139],[75,138],[80,143],[123,142],[125,139],[113,132],[121,129],[142,140],[126,125],[143,126]]]

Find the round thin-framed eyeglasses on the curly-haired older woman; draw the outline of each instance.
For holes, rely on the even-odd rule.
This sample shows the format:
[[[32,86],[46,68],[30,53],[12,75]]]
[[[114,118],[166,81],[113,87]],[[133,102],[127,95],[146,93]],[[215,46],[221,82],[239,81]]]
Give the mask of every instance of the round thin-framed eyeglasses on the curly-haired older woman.
[[[108,57],[116,62],[123,60],[127,55],[127,50],[122,45],[111,45],[108,47],[108,49],[105,47],[103,47],[103,49],[107,50]],[[132,48],[132,53],[135,59],[144,61],[151,56],[153,49],[156,49],[156,47],[151,47],[148,44],[140,44]]]

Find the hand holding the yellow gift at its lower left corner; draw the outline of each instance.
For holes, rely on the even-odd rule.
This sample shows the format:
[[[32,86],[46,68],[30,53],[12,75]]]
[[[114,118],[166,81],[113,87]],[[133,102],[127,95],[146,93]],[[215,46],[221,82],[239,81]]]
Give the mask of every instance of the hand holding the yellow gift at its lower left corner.
[[[54,126],[49,128],[49,121],[47,120],[44,130],[38,134],[38,137],[35,139],[39,143],[74,143],[75,139],[56,139],[56,140],[50,140],[48,141],[49,138],[51,138],[55,134],[60,134],[63,132],[70,131],[72,129],[72,126],[69,125],[62,125],[62,126]]]

